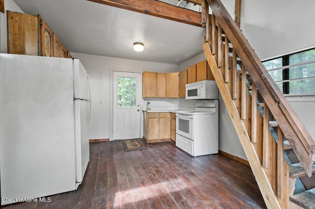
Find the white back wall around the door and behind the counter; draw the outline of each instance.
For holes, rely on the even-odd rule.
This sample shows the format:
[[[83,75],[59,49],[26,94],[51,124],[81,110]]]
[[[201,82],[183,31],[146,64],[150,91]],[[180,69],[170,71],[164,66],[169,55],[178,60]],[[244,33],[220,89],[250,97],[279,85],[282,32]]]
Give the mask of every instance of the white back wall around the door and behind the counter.
[[[90,139],[110,138],[110,70],[138,73],[142,73],[143,71],[161,73],[179,71],[178,65],[96,56],[74,52],[71,52],[71,55],[80,59],[91,80],[92,121]],[[99,104],[99,100],[102,100],[103,104]],[[148,101],[151,102],[152,107],[178,106],[178,99],[147,99],[141,101],[142,106],[146,106]],[[141,136],[143,135],[142,129],[143,125],[141,124]]]

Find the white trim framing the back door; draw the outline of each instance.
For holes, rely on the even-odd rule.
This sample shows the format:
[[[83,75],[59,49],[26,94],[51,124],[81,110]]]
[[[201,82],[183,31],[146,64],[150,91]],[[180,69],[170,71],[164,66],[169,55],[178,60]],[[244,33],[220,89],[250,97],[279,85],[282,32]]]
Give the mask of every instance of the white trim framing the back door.
[[[139,73],[140,74],[140,92],[142,92],[142,73],[141,71],[137,70],[130,70],[130,69],[123,69],[123,68],[109,68],[109,140],[113,141],[113,134],[114,134],[114,71],[118,72],[126,72],[126,73]],[[143,113],[142,113],[142,104],[143,98],[140,97],[140,137],[143,135]]]

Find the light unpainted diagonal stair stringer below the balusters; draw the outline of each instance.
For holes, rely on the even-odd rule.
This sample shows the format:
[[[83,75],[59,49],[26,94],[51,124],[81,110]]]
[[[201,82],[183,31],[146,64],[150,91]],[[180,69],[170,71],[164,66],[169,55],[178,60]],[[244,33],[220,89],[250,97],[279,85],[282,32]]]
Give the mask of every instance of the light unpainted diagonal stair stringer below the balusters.
[[[203,45],[203,51],[209,63],[210,69],[213,73],[213,76],[218,84],[222,99],[230,115],[234,128],[238,134],[238,137],[240,139],[240,142],[242,144],[246,157],[250,163],[252,172],[255,176],[256,182],[261,191],[262,197],[264,198],[266,206],[268,209],[281,209],[280,204],[277,200],[277,197],[273,191],[273,188],[264,171],[264,168],[261,166],[259,157],[251,142],[251,138],[246,130],[246,127],[243,121],[241,120],[237,107],[234,104],[232,97],[229,93],[229,90],[224,82],[221,71],[216,64],[215,57],[212,55],[210,45],[207,42],[204,43]]]

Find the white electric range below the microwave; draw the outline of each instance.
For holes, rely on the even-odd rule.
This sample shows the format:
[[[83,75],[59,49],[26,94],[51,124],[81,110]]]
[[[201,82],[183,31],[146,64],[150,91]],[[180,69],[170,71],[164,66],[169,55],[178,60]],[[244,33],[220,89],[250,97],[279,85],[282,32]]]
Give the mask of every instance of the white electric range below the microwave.
[[[177,111],[176,146],[189,155],[219,151],[218,100],[198,100],[194,111]]]

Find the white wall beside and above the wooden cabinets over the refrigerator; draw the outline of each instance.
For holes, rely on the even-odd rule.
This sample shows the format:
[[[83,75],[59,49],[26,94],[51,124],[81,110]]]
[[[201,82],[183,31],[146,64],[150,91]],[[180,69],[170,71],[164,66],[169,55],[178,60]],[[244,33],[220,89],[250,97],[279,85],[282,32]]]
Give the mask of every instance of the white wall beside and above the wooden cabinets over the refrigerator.
[[[6,43],[6,10],[12,12],[24,13],[20,7],[18,7],[13,0],[4,0],[4,10],[5,12],[0,12],[0,52],[7,53],[7,43]]]

